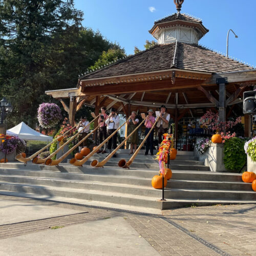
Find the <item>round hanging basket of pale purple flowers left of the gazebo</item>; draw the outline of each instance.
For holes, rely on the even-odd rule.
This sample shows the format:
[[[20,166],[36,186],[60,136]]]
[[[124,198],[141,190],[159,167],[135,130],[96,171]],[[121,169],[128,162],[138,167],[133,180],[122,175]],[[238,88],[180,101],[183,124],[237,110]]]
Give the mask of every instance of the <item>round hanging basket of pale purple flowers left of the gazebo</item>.
[[[60,108],[54,103],[42,103],[37,110],[39,124],[43,128],[50,128],[56,125],[62,118]]]

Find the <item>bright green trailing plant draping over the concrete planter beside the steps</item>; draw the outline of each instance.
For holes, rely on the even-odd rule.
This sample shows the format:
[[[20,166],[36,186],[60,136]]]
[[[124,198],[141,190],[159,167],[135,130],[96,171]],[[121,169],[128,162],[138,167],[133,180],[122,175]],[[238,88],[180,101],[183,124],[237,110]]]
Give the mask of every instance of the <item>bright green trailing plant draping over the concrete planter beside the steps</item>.
[[[246,154],[244,151],[245,140],[230,138],[224,143],[224,165],[227,169],[239,171],[245,164]]]

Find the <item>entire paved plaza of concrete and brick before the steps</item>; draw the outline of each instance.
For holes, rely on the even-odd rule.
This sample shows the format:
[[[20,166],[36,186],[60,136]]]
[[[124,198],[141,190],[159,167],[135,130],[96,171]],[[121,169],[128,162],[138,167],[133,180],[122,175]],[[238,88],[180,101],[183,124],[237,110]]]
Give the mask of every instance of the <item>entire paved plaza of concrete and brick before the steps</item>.
[[[256,204],[162,215],[0,196],[1,255],[256,255]]]

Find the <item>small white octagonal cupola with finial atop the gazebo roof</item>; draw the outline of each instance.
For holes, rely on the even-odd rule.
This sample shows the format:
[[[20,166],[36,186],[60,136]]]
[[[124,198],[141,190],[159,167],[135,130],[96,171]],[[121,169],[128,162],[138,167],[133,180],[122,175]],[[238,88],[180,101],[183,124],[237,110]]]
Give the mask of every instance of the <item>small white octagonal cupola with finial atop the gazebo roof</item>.
[[[159,45],[176,40],[187,44],[198,44],[209,30],[203,26],[201,19],[180,13],[183,1],[174,1],[177,13],[157,20],[149,32],[158,40]]]

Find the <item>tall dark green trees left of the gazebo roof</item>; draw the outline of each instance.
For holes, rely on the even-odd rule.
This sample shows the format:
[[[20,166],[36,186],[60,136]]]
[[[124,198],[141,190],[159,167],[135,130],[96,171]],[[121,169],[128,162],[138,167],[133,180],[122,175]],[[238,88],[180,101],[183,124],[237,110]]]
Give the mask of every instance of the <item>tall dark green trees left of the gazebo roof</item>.
[[[8,127],[35,127],[39,104],[50,101],[45,91],[75,87],[102,51],[119,48],[82,19],[73,0],[0,0],[0,96],[14,106]]]

